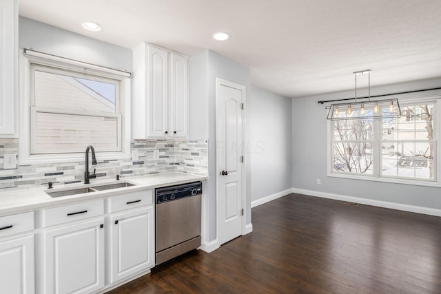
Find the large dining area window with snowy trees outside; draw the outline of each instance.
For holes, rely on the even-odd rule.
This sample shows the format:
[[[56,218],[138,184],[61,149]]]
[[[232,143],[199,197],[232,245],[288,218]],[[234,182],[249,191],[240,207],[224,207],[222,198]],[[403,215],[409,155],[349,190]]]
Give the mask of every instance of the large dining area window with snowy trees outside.
[[[402,100],[400,118],[329,121],[329,176],[436,185],[437,104]]]

